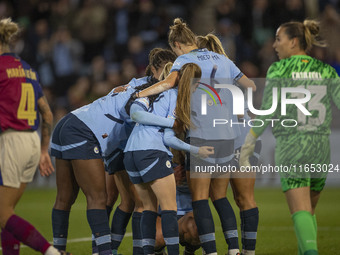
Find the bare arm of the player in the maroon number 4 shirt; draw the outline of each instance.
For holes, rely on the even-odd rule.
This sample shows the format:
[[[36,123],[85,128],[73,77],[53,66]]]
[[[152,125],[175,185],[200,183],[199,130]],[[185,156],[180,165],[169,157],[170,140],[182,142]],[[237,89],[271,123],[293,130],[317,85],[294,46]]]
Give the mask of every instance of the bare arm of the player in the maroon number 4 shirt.
[[[38,108],[42,117],[41,125],[41,156],[39,162],[39,170],[41,176],[49,176],[53,171],[53,165],[50,155],[48,154],[48,147],[50,144],[53,114],[45,96],[38,99]]]

